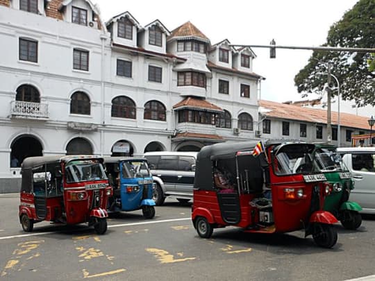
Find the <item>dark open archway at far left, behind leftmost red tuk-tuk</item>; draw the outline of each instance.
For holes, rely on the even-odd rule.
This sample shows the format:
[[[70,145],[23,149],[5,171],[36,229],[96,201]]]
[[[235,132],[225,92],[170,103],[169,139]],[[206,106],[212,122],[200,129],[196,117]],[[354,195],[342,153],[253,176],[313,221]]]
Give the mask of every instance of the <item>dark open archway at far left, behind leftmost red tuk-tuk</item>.
[[[26,157],[42,156],[42,144],[30,135],[22,135],[15,139],[10,146],[10,167],[21,167]]]

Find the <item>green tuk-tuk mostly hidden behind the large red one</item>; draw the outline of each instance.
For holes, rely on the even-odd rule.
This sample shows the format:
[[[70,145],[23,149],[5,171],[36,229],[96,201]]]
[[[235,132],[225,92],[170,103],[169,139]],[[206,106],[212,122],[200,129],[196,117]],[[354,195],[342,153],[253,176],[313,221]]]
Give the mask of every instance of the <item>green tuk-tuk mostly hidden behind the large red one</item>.
[[[344,228],[356,230],[362,223],[359,213],[362,207],[356,202],[349,201],[354,182],[336,147],[316,143],[313,158],[317,169],[324,173],[332,189],[324,201],[324,210],[331,212]]]

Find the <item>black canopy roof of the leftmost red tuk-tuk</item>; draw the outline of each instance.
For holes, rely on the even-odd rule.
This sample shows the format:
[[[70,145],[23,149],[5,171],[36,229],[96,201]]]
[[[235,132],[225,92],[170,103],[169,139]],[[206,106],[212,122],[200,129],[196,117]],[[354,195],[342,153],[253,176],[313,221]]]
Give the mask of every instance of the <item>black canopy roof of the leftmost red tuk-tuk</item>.
[[[38,167],[43,164],[51,164],[56,162],[70,162],[72,160],[90,160],[98,159],[103,161],[102,157],[94,155],[48,155],[48,156],[33,156],[27,157],[24,162],[22,162],[22,169],[32,169],[33,167]]]

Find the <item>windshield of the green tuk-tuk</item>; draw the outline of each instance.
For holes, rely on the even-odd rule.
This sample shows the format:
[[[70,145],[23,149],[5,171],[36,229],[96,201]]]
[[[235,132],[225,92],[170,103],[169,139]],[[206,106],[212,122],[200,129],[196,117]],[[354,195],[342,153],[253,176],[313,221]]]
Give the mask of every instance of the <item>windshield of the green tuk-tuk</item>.
[[[318,148],[314,153],[314,160],[319,171],[348,171],[334,148]]]

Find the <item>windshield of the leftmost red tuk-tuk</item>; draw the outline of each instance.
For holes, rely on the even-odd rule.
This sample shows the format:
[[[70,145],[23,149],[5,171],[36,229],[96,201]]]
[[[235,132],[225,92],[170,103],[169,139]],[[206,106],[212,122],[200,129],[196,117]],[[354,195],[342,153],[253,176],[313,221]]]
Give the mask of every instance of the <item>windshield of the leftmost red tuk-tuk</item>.
[[[94,160],[69,162],[66,166],[66,174],[68,183],[105,180],[107,178],[103,165]]]

